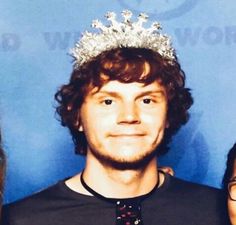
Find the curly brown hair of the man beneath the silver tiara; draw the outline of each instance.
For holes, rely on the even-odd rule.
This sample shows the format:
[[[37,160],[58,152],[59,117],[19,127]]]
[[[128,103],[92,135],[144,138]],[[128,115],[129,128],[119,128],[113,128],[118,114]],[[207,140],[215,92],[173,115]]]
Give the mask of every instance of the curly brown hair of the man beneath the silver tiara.
[[[150,71],[144,75],[146,63],[149,64]],[[87,152],[86,137],[83,132],[78,131],[79,110],[84,98],[94,87],[99,89],[112,80],[122,83],[140,82],[145,85],[158,81],[165,87],[169,127],[165,130],[157,152],[161,154],[167,151],[166,144],[180,126],[187,122],[188,109],[193,103],[190,90],[184,87],[185,74],[177,58],[169,61],[150,49],[117,48],[101,53],[80,68],[74,68],[69,83],[55,94],[58,102],[56,112],[61,124],[69,128],[76,152],[82,155]]]

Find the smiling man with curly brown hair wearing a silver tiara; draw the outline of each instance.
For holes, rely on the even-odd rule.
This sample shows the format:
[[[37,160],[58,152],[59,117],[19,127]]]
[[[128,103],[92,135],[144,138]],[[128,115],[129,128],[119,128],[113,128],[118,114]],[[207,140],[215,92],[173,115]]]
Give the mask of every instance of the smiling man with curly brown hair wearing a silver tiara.
[[[62,124],[86,155],[83,172],[6,207],[4,224],[225,224],[216,189],[157,169],[192,97],[159,24],[123,17],[93,23],[101,32],[76,44],[70,82],[56,94]]]

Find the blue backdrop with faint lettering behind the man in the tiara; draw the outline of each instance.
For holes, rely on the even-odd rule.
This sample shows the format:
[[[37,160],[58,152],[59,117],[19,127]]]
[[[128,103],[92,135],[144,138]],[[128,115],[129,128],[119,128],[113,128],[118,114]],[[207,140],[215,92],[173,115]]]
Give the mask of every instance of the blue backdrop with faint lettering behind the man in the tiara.
[[[107,11],[146,12],[162,23],[187,75],[195,104],[160,164],[176,176],[220,187],[236,141],[234,0],[37,0],[0,2],[0,117],[7,153],[5,202],[83,168],[54,115],[54,93],[71,73],[80,33]]]

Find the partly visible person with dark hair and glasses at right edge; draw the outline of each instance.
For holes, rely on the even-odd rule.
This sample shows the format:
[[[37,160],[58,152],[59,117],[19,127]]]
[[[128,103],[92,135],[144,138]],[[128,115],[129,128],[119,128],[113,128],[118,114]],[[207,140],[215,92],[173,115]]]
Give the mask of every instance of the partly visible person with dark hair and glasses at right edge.
[[[236,225],[236,143],[228,153],[226,171],[223,179],[227,193],[229,218],[232,225]]]

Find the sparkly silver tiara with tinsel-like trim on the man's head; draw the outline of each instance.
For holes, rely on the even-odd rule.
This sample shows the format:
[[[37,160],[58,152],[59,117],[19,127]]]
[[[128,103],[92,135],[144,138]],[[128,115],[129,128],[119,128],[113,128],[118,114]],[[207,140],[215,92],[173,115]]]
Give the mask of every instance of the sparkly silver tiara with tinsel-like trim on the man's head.
[[[122,16],[123,21],[118,22],[116,14],[108,12],[106,18],[110,21],[109,25],[105,26],[99,20],[92,22],[92,27],[97,28],[99,32],[85,31],[70,50],[75,67],[89,62],[104,51],[123,47],[151,49],[173,62],[175,50],[170,37],[160,33],[160,23],[154,22],[150,28],[144,28],[143,23],[147,22],[148,15],[141,13],[136,22],[131,22],[132,12],[129,10],[124,10]]]

